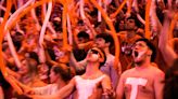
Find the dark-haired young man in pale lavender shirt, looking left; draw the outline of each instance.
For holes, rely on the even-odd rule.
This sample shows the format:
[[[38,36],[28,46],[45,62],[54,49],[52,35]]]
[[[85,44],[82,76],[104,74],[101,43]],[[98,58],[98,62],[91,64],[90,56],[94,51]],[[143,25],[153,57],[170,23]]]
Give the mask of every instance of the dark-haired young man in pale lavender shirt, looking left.
[[[116,89],[119,75],[122,74],[122,66],[120,61],[118,61],[117,70],[114,68],[115,56],[111,54],[111,47],[114,45],[114,40],[109,33],[99,33],[96,37],[96,46],[100,47],[104,51],[106,56],[106,61],[103,67],[101,67],[101,71],[107,74],[112,81],[112,86]]]

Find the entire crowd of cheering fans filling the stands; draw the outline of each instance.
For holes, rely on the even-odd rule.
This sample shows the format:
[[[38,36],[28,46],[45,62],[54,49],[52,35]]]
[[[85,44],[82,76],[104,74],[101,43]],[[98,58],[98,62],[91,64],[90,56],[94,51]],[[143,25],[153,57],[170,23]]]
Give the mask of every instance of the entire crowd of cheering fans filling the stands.
[[[144,29],[149,0],[127,0],[114,16],[124,1],[97,0],[113,23],[118,42],[91,0],[71,0],[66,16],[67,45],[62,0],[51,1],[52,12],[42,42],[40,33],[49,5],[31,9],[9,30],[17,59],[8,36],[2,41],[1,58],[8,77],[21,87],[23,95],[0,72],[0,99],[177,99],[177,0],[151,0],[149,39]],[[1,24],[7,2],[0,1]],[[13,0],[11,13],[27,2]],[[115,43],[120,46],[116,67]]]

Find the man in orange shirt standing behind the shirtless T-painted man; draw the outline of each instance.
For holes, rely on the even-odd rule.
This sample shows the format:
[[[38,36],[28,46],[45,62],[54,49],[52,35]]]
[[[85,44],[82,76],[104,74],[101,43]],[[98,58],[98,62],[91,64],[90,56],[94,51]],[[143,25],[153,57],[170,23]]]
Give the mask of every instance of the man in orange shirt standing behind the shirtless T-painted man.
[[[122,23],[122,22],[120,22]],[[131,57],[132,45],[136,40],[142,38],[137,34],[139,27],[138,19],[135,15],[131,15],[125,20],[125,31],[117,33],[120,42],[120,63],[123,71],[134,67],[134,60]]]

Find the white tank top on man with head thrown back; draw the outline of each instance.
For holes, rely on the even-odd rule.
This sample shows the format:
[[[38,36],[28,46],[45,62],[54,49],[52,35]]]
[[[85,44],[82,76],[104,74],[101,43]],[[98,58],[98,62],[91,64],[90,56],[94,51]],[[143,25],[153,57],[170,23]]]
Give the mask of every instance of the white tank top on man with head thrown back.
[[[96,85],[104,77],[105,75],[101,75],[94,80],[85,80],[81,76],[75,76],[76,88],[78,90],[78,99],[88,99],[96,87]]]

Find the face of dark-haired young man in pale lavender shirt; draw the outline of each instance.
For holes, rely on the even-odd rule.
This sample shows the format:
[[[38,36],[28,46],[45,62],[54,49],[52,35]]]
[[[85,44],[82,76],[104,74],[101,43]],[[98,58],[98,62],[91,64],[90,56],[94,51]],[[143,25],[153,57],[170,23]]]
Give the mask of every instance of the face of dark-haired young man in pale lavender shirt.
[[[109,47],[107,43],[105,43],[105,40],[102,38],[96,39],[96,45],[97,47],[100,47],[100,48]]]

